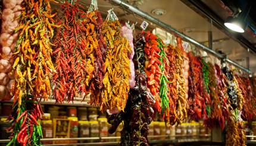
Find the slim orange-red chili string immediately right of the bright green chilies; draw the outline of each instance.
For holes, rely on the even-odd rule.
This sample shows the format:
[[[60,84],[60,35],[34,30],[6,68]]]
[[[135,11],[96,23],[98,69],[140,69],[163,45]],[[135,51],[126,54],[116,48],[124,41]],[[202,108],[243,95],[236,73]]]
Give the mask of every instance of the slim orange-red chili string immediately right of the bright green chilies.
[[[169,65],[166,64],[166,72],[168,82],[168,99],[169,99],[169,122],[170,125],[174,125],[177,122],[176,112],[176,100],[177,100],[177,77],[176,74],[176,56],[174,55],[174,46],[168,45],[166,56],[168,58]]]

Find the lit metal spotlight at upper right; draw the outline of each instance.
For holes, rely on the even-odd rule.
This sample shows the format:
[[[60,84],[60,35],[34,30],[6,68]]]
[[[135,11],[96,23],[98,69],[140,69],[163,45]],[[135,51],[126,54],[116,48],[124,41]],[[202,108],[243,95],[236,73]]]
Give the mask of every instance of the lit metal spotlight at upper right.
[[[246,23],[246,19],[250,9],[251,7],[249,7],[247,10],[245,9],[244,11],[236,12],[233,17],[227,17],[224,26],[238,33],[244,33],[246,27],[248,26]]]

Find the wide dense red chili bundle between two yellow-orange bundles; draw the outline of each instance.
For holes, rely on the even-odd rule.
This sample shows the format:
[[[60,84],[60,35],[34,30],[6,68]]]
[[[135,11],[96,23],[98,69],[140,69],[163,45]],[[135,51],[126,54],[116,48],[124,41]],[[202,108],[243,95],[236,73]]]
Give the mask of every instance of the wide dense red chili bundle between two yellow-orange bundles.
[[[82,8],[77,2],[64,2],[61,5],[64,14],[55,39],[57,72],[53,75],[54,97],[57,103],[62,103],[65,98],[67,101],[73,101],[80,91],[89,92],[86,87],[92,78],[96,59],[92,52],[98,48],[98,43],[94,41],[96,38],[86,38],[94,33],[95,26],[83,24],[82,18],[86,13]]]

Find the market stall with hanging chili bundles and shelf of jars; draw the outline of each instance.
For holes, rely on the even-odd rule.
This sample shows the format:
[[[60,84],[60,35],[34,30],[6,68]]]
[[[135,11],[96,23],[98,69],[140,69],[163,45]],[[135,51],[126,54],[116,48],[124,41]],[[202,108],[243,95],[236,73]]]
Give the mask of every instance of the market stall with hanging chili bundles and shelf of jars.
[[[114,9],[102,18],[97,1],[3,1],[2,144],[246,145],[255,138],[246,139],[256,129],[249,69],[111,2],[145,19],[139,32]]]

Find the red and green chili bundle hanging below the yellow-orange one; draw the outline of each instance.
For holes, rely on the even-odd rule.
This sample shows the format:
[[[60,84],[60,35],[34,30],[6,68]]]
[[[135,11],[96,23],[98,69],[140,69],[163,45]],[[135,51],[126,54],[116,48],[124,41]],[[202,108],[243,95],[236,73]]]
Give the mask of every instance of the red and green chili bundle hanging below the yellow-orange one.
[[[7,145],[41,145],[40,138],[43,138],[43,134],[40,120],[42,115],[40,104],[32,96],[22,97],[20,107],[18,101],[15,101],[13,113],[9,118],[12,123],[12,126],[8,128],[8,131],[12,132],[11,141]]]

